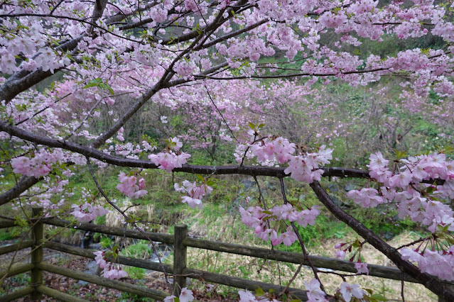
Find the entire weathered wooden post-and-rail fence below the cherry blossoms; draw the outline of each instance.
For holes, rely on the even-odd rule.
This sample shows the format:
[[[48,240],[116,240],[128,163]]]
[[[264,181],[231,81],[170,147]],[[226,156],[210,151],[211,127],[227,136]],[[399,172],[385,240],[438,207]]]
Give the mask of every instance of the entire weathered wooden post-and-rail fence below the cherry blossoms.
[[[212,250],[217,252],[227,252],[235,255],[244,255],[250,257],[256,257],[261,259],[276,260],[279,262],[288,262],[293,264],[308,264],[303,255],[291,252],[274,251],[259,247],[248,247],[244,245],[233,245],[229,243],[213,242],[209,240],[201,240],[188,237],[188,226],[187,225],[175,225],[174,235],[162,234],[162,233],[150,233],[145,232],[144,236],[137,230],[125,230],[123,228],[111,228],[105,225],[94,225],[92,223],[72,223],[68,220],[59,218],[43,218],[40,217],[43,213],[42,208],[33,208],[33,219],[32,223],[32,240],[25,240],[14,245],[8,245],[0,247],[0,255],[4,255],[9,252],[16,252],[31,247],[31,263],[21,264],[14,266],[4,272],[0,272],[0,279],[2,277],[15,276],[24,272],[31,272],[31,281],[28,286],[23,289],[13,291],[6,295],[0,296],[0,301],[13,301],[16,298],[31,295],[33,299],[40,299],[42,295],[57,298],[61,301],[87,301],[82,298],[70,296],[67,293],[50,289],[43,285],[43,271],[50,272],[53,274],[59,274],[70,277],[72,279],[83,280],[92,284],[98,284],[100,286],[106,286],[111,289],[117,289],[126,293],[136,294],[138,296],[153,298],[156,300],[163,300],[170,293],[160,291],[157,289],[148,289],[145,286],[138,286],[135,284],[129,284],[124,281],[117,281],[104,278],[102,276],[96,276],[83,272],[77,272],[75,270],[58,267],[53,264],[43,262],[43,247],[50,250],[56,250],[60,252],[66,252],[72,255],[82,256],[94,259],[95,255],[91,250],[83,249],[80,247],[73,247],[70,245],[61,244],[58,242],[52,242],[45,240],[44,237],[44,225],[54,225],[61,228],[73,228],[77,230],[85,230],[94,233],[102,233],[105,235],[116,235],[120,237],[136,238],[141,240],[151,239],[156,242],[163,242],[168,245],[173,245],[173,265],[170,264],[159,264],[156,262],[150,262],[143,259],[135,259],[131,257],[118,256],[115,262],[119,264],[129,265],[131,267],[140,267],[143,269],[150,269],[153,271],[163,272],[171,274],[174,277],[174,290],[178,291],[186,286],[186,278],[204,280],[214,284],[223,284],[226,286],[233,286],[239,289],[249,289],[255,291],[256,289],[263,289],[269,291],[273,289],[275,292],[280,292],[284,289],[283,286],[268,284],[259,281],[252,281],[242,279],[234,276],[227,276],[224,274],[215,274],[212,272],[205,272],[198,269],[191,269],[187,267],[187,248],[196,247],[203,250]],[[0,228],[11,228],[14,226],[13,221],[0,221]],[[352,272],[356,273],[355,264],[340,259],[332,259],[326,257],[310,256],[310,262],[315,267],[333,269],[341,272]],[[109,259],[109,258],[107,258]],[[113,259],[111,259],[113,261]],[[404,280],[409,282],[418,283],[415,279],[411,278],[407,274],[403,274],[399,269],[394,267],[384,267],[381,265],[368,264],[369,276],[378,276],[386,279]],[[450,284],[446,282],[446,284]],[[450,284],[452,285],[452,284]],[[307,300],[306,291],[302,289],[289,288],[288,293],[296,298],[300,298],[303,301]],[[178,295],[177,295],[178,296]]]

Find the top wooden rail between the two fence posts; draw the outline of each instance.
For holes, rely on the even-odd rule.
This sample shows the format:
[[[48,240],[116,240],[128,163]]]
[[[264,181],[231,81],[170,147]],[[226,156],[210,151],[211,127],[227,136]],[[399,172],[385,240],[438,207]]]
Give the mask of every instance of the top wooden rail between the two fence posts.
[[[70,220],[63,220],[60,218],[45,218],[43,223],[48,225],[56,225],[63,228],[74,228],[76,230],[88,230],[95,233],[102,233],[107,235],[115,235],[128,238],[136,238],[142,240],[148,240],[150,238],[153,241],[163,242],[167,244],[173,244],[173,235],[144,232],[147,236],[142,235],[138,230],[126,230],[124,228],[112,228],[107,225],[95,225],[92,223],[72,223]]]

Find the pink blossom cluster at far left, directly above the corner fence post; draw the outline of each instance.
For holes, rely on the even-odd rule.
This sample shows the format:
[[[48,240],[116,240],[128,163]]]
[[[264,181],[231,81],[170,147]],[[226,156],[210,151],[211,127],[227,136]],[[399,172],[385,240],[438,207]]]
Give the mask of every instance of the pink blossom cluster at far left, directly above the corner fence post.
[[[40,150],[31,158],[26,156],[14,157],[11,160],[11,167],[13,167],[14,173],[20,173],[28,177],[43,177],[50,172],[51,165],[60,160],[63,160],[63,152]]]

